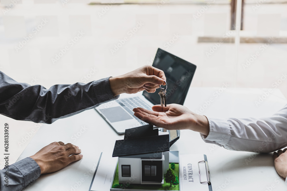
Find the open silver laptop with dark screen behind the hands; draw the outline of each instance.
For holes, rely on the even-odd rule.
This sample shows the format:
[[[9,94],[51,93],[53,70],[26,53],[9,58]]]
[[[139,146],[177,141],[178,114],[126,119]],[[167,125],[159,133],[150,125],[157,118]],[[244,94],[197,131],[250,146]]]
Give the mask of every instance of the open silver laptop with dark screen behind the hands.
[[[196,66],[160,48],[156,52],[154,62],[155,68],[164,71],[166,83],[166,103],[183,105],[191,80],[195,73]],[[153,105],[160,104],[160,96],[156,89],[154,93],[144,91],[142,95],[129,98],[119,98],[115,101],[101,104],[96,111],[110,124],[119,134],[125,133],[125,129],[147,125],[133,114],[133,109],[142,107],[152,111]]]

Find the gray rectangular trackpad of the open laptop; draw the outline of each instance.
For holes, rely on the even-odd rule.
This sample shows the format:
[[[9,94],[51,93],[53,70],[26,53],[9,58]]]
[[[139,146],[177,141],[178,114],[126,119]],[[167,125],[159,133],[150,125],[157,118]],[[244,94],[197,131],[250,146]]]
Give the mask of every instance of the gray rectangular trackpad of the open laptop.
[[[111,122],[133,119],[123,108],[111,107],[108,109],[99,109],[100,112]]]

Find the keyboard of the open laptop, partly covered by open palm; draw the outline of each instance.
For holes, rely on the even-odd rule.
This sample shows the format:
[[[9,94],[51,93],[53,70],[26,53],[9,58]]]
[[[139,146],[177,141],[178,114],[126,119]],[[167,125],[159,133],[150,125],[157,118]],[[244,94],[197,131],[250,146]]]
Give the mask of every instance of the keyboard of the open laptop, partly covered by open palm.
[[[136,107],[141,107],[144,109],[148,109],[152,111],[152,108],[148,106],[144,101],[139,99],[139,97],[132,97],[132,98],[125,98],[117,100],[117,103],[119,103],[129,114],[133,116],[140,124],[147,125],[148,123],[141,121],[139,118],[135,117],[133,114],[133,109]]]

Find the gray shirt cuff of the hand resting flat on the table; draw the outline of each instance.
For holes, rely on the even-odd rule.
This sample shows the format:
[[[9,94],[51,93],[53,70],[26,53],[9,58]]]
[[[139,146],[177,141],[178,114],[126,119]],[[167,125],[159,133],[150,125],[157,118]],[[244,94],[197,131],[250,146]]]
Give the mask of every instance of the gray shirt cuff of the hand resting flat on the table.
[[[0,170],[0,190],[18,191],[39,178],[41,169],[30,157],[24,158]]]

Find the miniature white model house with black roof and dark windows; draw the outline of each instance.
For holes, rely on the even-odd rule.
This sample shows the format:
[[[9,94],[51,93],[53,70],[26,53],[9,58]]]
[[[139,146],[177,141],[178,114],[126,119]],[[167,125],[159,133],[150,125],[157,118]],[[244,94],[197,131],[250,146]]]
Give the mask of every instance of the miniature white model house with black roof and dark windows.
[[[119,183],[163,184],[169,166],[169,135],[158,135],[152,125],[125,131],[115,143],[113,157],[119,157]]]

